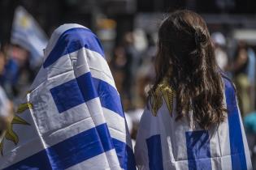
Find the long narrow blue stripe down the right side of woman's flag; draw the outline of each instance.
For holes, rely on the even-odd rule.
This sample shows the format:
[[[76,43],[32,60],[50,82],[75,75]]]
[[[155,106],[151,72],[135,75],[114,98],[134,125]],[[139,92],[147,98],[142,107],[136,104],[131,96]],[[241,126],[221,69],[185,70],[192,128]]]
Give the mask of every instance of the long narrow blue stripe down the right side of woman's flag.
[[[225,96],[228,108],[228,126],[232,169],[247,169],[241,122],[236,104],[236,92],[228,79],[225,82]]]

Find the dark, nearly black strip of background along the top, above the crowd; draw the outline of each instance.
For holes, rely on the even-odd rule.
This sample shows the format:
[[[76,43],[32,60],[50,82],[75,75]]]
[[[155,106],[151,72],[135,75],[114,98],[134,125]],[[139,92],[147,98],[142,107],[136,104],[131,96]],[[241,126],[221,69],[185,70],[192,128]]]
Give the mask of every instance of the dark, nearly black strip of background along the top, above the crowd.
[[[167,13],[176,9],[190,9],[205,15],[208,23],[213,22],[210,16],[218,15],[217,22],[215,21],[213,26],[210,25],[210,29],[246,28],[256,25],[252,23],[249,25],[248,21],[247,23],[243,21],[251,19],[256,23],[254,0],[0,0],[2,44],[10,39],[11,23],[17,6],[24,6],[37,19],[48,36],[62,23],[80,23],[95,29],[93,17],[103,13],[115,19],[117,23],[115,40],[117,44],[121,39],[119,35],[133,30],[133,21],[141,13]],[[237,17],[239,19],[236,19]],[[235,22],[230,23],[231,18]]]

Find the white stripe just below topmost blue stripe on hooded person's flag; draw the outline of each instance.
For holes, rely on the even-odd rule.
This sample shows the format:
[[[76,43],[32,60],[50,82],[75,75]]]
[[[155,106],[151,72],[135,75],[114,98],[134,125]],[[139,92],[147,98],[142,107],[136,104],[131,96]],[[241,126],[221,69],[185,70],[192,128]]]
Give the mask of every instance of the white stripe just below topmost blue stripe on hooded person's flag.
[[[66,57],[70,57],[71,60],[67,60]],[[82,65],[78,66],[77,63],[81,63]],[[85,63],[88,63],[89,66],[85,65]],[[101,79],[102,81],[111,84],[111,86],[116,89],[111,70],[109,69],[105,58],[90,49],[82,48],[76,52],[59,57],[58,61],[47,67],[46,70],[48,71],[48,79],[55,79],[63,74],[68,74],[68,76],[70,76],[65,79],[59,79],[59,81],[54,81],[54,84],[52,84],[51,87],[58,86],[64,83],[64,81],[67,82],[68,80],[75,79],[75,76],[77,78],[90,71],[94,78]],[[75,76],[73,76],[73,74],[75,74]],[[36,85],[33,85],[33,87],[35,86]]]

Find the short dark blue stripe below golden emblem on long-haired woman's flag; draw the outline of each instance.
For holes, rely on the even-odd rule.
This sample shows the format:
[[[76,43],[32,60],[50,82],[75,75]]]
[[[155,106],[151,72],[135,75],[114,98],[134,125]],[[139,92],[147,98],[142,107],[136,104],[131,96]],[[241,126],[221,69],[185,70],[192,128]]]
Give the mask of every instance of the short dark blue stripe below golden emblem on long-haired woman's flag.
[[[151,136],[146,139],[146,145],[148,147],[149,155],[149,167],[150,170],[162,170],[163,169],[163,156],[161,137],[159,134]]]

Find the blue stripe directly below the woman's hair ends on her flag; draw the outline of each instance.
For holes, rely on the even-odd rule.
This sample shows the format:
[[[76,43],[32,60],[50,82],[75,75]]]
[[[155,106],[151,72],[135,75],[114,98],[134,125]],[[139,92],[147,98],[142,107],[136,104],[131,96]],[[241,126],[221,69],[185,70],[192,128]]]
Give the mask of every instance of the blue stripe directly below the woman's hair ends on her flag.
[[[186,132],[189,170],[211,169],[210,138],[206,130]]]

